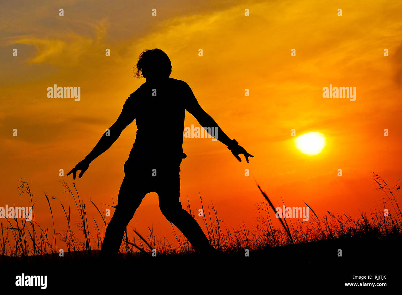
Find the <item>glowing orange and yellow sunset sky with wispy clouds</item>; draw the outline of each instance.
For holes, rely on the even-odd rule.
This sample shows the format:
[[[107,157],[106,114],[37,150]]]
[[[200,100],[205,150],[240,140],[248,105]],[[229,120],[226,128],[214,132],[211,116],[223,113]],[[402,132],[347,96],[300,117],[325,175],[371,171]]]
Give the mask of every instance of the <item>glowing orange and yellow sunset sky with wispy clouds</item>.
[[[201,194],[204,206],[213,202],[226,226],[255,226],[255,204],[263,198],[252,176],[244,176],[248,168],[274,204],[283,198],[287,206],[303,206],[303,200],[318,215],[330,210],[357,216],[382,208],[371,171],[390,186],[402,175],[401,2],[135,3],[0,4],[0,206],[27,206],[17,191],[21,177],[32,182],[41,224],[51,226],[43,190],[73,206],[59,182],[72,185],[72,177],[59,177],[59,169],[67,173],[90,152],[127,96],[145,82],[133,77],[138,55],[160,48],[172,61],[171,77],[187,82],[205,111],[254,155],[249,164],[239,163],[219,141],[185,138],[184,206],[188,196],[198,209]],[[246,8],[250,16],[244,16]],[[338,8],[343,16],[337,16]],[[81,87],[80,101],[48,98],[53,84]],[[322,88],[330,84],[356,87],[356,101],[323,98]],[[250,89],[249,97],[244,89]],[[199,125],[186,113],[185,126],[191,124]],[[18,137],[12,136],[14,128]],[[301,154],[291,129],[297,135],[324,134],[323,152]],[[89,198],[96,204],[117,199],[135,131],[132,123],[76,180],[88,216],[98,218]],[[61,232],[62,210],[55,201],[52,206]],[[143,200],[130,223],[135,224],[140,233],[153,225],[154,233],[173,241],[155,193]]]

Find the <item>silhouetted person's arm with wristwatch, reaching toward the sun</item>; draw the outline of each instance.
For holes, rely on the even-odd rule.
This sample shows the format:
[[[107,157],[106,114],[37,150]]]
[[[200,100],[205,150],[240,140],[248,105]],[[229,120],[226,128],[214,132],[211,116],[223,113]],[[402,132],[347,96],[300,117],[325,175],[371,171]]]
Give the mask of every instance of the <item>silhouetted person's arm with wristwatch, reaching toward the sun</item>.
[[[191,113],[197,119],[197,121],[201,124],[202,127],[211,127],[207,128],[206,130],[211,134],[213,129],[217,130],[217,133],[213,135],[217,140],[220,142],[224,143],[225,145],[228,146],[228,149],[232,152],[233,156],[236,157],[239,162],[242,162],[242,159],[240,159],[239,155],[243,154],[244,157],[246,158],[246,161],[248,163],[248,157],[253,158],[251,154],[248,154],[248,152],[239,145],[239,143],[235,139],[230,139],[228,135],[222,129],[219,127],[219,125],[215,122],[214,119],[206,111],[203,110],[201,105],[197,102],[197,99],[195,99],[195,96],[193,94],[193,91],[191,91],[191,88],[187,85],[186,88],[188,87],[187,91],[188,95],[190,96],[189,103],[186,106],[186,110]]]

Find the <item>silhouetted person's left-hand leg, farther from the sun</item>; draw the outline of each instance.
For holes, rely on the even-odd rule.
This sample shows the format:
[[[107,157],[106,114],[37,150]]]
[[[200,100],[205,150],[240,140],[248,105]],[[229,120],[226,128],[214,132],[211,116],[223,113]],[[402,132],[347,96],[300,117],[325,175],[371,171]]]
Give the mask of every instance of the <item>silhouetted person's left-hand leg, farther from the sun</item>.
[[[143,190],[135,190],[131,176],[124,177],[120,186],[116,211],[113,214],[103,239],[101,256],[115,257],[119,253],[121,241],[128,223],[137,210],[146,193]]]

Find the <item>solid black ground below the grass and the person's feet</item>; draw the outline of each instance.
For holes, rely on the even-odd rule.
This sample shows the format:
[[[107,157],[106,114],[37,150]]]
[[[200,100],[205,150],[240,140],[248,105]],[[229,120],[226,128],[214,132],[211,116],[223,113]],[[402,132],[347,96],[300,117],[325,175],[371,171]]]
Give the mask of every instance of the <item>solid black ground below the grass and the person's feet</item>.
[[[92,252],[92,257],[83,257],[83,253],[64,253],[64,257],[56,254],[47,259],[0,257],[0,283],[2,291],[14,288],[35,293],[142,290],[154,294],[173,290],[182,294],[220,290],[226,294],[243,293],[242,290],[247,293],[294,290],[304,294],[339,288],[377,293],[400,290],[401,242],[400,235],[382,241],[354,237],[250,251],[250,257],[244,256],[244,250],[217,257],[142,254],[115,262],[100,261],[97,251]],[[338,249],[342,249],[342,257],[338,257]],[[15,277],[22,273],[47,275],[47,289],[15,287]],[[353,279],[353,275],[386,275],[386,279],[362,281]],[[387,283],[387,286],[345,287],[345,283]]]

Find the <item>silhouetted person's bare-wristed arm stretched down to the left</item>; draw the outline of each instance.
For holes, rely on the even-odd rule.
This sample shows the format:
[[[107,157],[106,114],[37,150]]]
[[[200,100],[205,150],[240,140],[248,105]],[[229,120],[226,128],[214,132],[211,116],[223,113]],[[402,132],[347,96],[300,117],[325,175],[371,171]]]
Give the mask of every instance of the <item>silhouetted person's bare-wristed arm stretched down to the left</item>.
[[[90,162],[98,158],[103,152],[107,151],[109,147],[113,145],[113,143],[119,138],[121,131],[125,127],[127,127],[131,122],[134,121],[135,117],[133,115],[133,111],[131,110],[131,97],[127,98],[123,110],[121,114],[117,118],[116,122],[106,130],[106,132],[100,137],[98,143],[96,143],[95,147],[92,151],[85,157],[84,160],[79,162],[70,172],[68,172],[67,176],[71,173],[73,174],[73,179],[76,178],[77,171],[81,171],[78,175],[78,178],[81,178],[82,174],[88,169]]]

